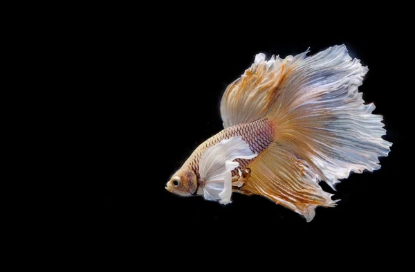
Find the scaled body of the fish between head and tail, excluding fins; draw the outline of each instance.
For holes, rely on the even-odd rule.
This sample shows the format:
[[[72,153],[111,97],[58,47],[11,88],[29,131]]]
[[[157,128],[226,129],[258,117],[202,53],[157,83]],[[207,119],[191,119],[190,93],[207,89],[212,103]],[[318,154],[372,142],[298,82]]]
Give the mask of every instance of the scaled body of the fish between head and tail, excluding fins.
[[[205,140],[199,147],[194,150],[192,155],[187,159],[185,165],[190,168],[195,174],[198,183],[200,182],[199,174],[199,161],[205,149],[208,149],[212,145],[216,145],[225,140],[234,136],[241,136],[242,140],[248,143],[252,152],[261,154],[264,150],[273,143],[273,125],[268,119],[260,119],[250,124],[235,125],[233,127],[228,127],[223,129],[218,134],[212,136],[208,140]],[[238,169],[246,168],[252,161],[254,161],[258,156],[250,160],[237,158],[235,161],[239,162],[239,167],[235,168],[232,171],[232,176],[237,174]]]

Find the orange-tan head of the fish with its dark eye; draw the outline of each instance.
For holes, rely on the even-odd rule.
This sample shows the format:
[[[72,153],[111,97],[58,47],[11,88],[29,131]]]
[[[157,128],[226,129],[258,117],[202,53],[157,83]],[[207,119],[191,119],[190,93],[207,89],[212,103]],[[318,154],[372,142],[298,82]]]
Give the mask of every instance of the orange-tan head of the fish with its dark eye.
[[[197,179],[192,170],[178,170],[166,184],[166,190],[174,194],[191,196],[196,194]]]

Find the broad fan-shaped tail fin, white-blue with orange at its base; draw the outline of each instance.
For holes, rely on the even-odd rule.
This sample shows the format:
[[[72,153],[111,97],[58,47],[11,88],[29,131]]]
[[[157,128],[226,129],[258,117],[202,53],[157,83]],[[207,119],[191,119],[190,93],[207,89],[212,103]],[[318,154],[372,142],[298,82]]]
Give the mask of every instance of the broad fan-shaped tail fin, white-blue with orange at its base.
[[[332,188],[350,172],[378,170],[378,157],[387,156],[391,143],[382,139],[382,116],[371,114],[374,104],[365,105],[358,92],[369,69],[352,60],[346,46],[295,58],[266,115],[274,140]]]

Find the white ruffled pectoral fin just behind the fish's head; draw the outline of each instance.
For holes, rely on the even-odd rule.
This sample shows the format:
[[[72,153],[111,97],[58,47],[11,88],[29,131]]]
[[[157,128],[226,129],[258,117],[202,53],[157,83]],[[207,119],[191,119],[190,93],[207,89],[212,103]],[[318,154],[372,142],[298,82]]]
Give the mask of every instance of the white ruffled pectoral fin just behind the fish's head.
[[[203,152],[199,161],[199,173],[205,183],[203,189],[206,200],[219,201],[222,204],[230,203],[232,195],[231,171],[239,166],[235,158],[255,158],[249,145],[241,136],[222,140]]]

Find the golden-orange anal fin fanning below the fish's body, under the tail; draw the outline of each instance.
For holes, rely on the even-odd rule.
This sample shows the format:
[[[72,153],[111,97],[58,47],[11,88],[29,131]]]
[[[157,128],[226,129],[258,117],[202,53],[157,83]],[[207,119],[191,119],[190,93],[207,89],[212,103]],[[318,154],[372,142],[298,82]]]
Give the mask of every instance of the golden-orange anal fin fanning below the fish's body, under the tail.
[[[311,221],[317,206],[331,207],[333,194],[324,192],[307,163],[284,147],[273,143],[249,165],[250,178],[234,190],[259,194],[290,208]]]

